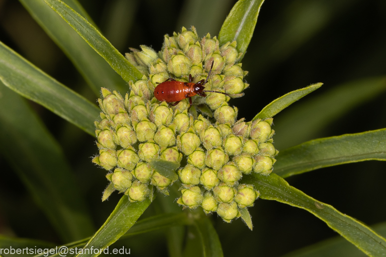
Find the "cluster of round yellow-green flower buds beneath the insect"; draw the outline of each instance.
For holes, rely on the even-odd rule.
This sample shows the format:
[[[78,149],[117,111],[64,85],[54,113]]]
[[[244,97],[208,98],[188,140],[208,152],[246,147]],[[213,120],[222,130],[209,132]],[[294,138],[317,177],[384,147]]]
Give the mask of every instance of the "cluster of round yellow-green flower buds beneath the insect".
[[[228,105],[230,98],[223,94],[194,96],[189,109],[188,99],[173,107],[158,101],[153,92],[169,77],[187,82],[192,74],[195,83],[205,79],[213,63],[205,89],[241,94],[248,86],[243,82],[247,72],[237,63],[242,53],[236,42],[219,46],[209,34],[200,39],[194,27],[165,36],[159,53],[141,49],[132,49],[126,58],[144,74],[142,79],[129,83],[131,91],[124,98],[102,88],[98,100],[99,155],[93,162],[109,171],[110,182],[102,199],[116,190],[130,201],[142,201],[153,187],[168,194],[175,181],[152,169],[149,162],[184,160],[186,165],[177,171],[182,185],[177,202],[184,208],[201,206],[205,213],[217,212],[230,222],[260,195],[253,185],[239,182],[242,176],[272,172],[278,153],[273,146],[273,120],[236,121],[238,110]]]

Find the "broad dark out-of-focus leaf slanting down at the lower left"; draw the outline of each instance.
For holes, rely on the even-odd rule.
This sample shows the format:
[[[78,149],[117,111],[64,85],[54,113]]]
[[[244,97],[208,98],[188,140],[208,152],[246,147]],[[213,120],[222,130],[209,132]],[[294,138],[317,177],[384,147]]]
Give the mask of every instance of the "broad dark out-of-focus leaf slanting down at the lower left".
[[[58,142],[1,82],[0,95],[0,151],[64,241],[89,236],[91,216]]]

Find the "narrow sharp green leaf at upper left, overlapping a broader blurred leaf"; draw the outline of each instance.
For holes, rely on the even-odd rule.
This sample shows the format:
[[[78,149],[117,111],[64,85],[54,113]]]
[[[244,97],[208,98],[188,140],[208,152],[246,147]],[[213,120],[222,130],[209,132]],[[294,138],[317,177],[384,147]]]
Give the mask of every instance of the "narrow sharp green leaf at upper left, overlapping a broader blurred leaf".
[[[116,50],[84,17],[60,0],[44,0],[125,80],[142,78],[139,72],[129,61]]]

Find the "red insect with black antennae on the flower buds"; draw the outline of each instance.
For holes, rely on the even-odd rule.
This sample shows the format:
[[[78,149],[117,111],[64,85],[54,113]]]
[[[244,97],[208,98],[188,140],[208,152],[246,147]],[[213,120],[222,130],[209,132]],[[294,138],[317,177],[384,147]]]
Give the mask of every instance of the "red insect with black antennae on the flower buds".
[[[204,90],[205,87],[203,85],[208,82],[208,78],[210,75],[210,72],[213,68],[210,67],[208,76],[205,80],[201,79],[197,83],[192,82],[192,74],[189,74],[189,82],[180,82],[176,81],[173,78],[168,78],[154,89],[154,96],[157,98],[158,101],[165,101],[167,103],[175,102],[172,106],[176,106],[179,102],[182,100],[189,98],[189,103],[191,109],[192,107],[192,96],[194,95],[200,95],[205,97],[206,94],[204,92],[213,92],[213,93],[220,93],[229,96],[227,93],[218,92],[218,91],[212,91],[212,90]],[[188,109],[188,111],[189,111]]]

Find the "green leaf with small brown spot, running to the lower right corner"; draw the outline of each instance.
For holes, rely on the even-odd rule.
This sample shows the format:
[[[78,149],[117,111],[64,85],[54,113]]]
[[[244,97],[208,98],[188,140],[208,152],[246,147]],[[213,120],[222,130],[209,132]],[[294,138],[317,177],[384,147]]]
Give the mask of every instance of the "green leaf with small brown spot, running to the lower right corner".
[[[368,256],[386,255],[386,240],[371,228],[291,187],[278,175],[253,174],[245,176],[244,182],[254,184],[263,199],[276,200],[309,211]]]

